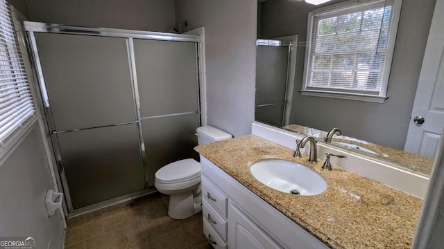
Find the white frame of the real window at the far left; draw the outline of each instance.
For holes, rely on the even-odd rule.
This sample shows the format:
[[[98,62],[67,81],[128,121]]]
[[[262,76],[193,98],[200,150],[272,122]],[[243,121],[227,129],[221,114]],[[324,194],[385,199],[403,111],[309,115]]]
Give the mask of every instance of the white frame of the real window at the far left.
[[[25,74],[28,78],[28,86],[31,91],[31,97],[34,103],[34,112],[33,115],[29,116],[26,120],[24,120],[19,127],[17,127],[14,131],[12,131],[3,141],[0,142],[0,167],[3,163],[8,159],[8,157],[19,147],[22,141],[28,136],[31,132],[31,128],[35,127],[35,123],[40,118],[40,113],[37,100],[35,99],[35,89],[31,81],[33,80],[33,75],[31,72],[31,64],[28,60],[28,53],[26,50],[26,42],[24,33],[22,33],[22,26],[20,21],[17,19],[17,13],[15,8],[10,5],[10,3],[6,3],[9,5],[10,15],[12,17],[12,25],[15,28],[15,33],[17,35],[17,44],[19,45],[20,53],[22,54],[23,64],[25,68]]]

